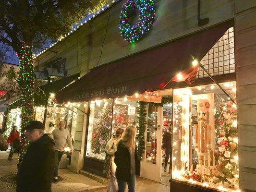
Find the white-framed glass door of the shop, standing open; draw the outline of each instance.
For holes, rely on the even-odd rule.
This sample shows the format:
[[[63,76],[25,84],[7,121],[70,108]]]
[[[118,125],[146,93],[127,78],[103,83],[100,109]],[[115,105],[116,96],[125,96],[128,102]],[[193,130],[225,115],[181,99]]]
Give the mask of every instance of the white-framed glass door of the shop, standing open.
[[[161,182],[162,107],[148,105],[141,177]]]

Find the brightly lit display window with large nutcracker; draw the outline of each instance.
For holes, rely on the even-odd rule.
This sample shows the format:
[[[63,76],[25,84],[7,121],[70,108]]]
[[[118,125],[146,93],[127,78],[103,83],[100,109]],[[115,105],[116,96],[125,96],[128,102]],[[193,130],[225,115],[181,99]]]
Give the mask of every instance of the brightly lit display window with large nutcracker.
[[[235,100],[235,82],[220,84]],[[216,84],[174,89],[172,178],[239,190],[236,105]]]

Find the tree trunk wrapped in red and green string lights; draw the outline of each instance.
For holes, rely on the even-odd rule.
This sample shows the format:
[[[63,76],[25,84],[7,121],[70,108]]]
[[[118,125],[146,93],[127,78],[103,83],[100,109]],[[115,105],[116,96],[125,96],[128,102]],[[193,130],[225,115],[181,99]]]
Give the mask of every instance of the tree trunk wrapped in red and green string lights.
[[[34,113],[34,68],[32,46],[27,45],[23,41],[23,46],[19,52],[16,53],[20,61],[19,78],[17,80],[21,90],[21,129],[23,129],[29,121],[33,120]],[[22,162],[26,148],[29,142],[25,138],[24,131],[21,131],[20,137],[20,151],[19,163]]]

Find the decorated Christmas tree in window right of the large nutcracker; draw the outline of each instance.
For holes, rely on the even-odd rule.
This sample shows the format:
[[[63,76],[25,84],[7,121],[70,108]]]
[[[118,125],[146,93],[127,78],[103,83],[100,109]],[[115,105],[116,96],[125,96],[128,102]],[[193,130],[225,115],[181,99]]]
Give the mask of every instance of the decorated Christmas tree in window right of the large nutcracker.
[[[235,179],[234,175],[238,174],[238,165],[233,161],[234,156],[238,155],[238,144],[233,141],[237,138],[237,127],[233,125],[237,114],[231,101],[226,102],[223,97],[217,96],[215,103],[215,131],[218,139],[215,163],[219,175],[214,182],[224,184],[230,183],[228,179]]]

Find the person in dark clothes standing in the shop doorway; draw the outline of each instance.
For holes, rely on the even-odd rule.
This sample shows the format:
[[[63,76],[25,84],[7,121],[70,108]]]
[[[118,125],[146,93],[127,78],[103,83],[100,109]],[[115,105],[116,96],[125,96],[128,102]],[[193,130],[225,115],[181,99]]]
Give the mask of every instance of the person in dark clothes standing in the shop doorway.
[[[163,149],[165,150],[165,160],[164,160],[164,172],[166,172],[166,168],[169,162],[169,157],[170,157],[170,166],[169,166],[169,174],[171,174],[171,167],[172,167],[172,161],[171,161],[171,156],[172,156],[172,125],[170,125],[169,129],[164,132],[163,134]]]

